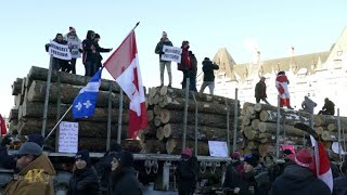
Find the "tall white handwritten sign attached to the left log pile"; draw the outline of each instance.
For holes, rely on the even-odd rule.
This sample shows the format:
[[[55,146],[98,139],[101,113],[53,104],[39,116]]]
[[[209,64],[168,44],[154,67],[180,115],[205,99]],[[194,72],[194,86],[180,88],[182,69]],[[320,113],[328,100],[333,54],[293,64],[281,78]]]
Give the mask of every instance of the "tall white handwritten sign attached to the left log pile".
[[[78,122],[62,121],[59,126],[59,152],[77,153]]]

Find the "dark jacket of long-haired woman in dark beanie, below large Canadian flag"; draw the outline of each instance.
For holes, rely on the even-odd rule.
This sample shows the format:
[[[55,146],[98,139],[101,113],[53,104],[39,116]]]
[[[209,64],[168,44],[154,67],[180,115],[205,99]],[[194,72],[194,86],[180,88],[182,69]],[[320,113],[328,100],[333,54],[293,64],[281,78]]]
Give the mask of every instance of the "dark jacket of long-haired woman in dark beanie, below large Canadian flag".
[[[110,195],[142,195],[140,183],[132,167],[119,167],[112,173]]]

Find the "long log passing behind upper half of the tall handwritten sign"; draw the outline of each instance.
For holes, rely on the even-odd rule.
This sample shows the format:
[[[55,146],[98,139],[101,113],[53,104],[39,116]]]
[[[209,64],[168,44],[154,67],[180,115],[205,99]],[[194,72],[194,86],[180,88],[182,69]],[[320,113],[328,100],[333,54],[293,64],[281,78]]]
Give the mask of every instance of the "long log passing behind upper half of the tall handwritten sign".
[[[47,121],[46,134],[56,125],[55,120]],[[111,136],[116,139],[118,123],[112,123]],[[22,118],[18,121],[18,133],[22,135],[41,133],[42,120],[36,118]],[[57,128],[59,129],[59,128]],[[128,126],[121,126],[121,138],[128,138]],[[78,135],[83,138],[107,138],[106,122],[78,121]],[[106,140],[105,140],[106,141]]]

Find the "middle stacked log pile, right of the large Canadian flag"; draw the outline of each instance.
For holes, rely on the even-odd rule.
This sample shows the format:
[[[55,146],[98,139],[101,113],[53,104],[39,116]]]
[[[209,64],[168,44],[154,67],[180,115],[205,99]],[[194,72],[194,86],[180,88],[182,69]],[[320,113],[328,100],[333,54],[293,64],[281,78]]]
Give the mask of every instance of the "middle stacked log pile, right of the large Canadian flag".
[[[196,103],[194,102],[194,98]],[[184,128],[184,90],[151,88],[147,98],[150,128],[142,131],[143,153],[180,154]],[[197,154],[209,155],[208,141],[227,141],[227,105],[229,107],[230,141],[235,101],[216,95],[190,92],[185,146],[194,148],[195,108],[197,107]],[[239,105],[237,109],[240,108]]]

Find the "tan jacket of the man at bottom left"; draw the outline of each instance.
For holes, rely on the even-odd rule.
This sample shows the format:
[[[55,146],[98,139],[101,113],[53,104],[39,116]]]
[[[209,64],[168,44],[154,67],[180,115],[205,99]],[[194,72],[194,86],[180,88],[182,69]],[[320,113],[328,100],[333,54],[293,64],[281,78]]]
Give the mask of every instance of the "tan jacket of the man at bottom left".
[[[13,177],[4,190],[4,194],[53,195],[54,176],[55,170],[50,159],[46,155],[41,155]]]

